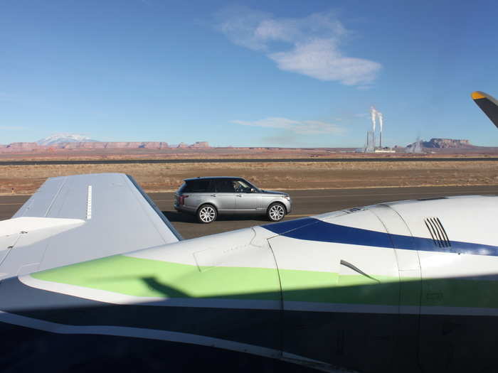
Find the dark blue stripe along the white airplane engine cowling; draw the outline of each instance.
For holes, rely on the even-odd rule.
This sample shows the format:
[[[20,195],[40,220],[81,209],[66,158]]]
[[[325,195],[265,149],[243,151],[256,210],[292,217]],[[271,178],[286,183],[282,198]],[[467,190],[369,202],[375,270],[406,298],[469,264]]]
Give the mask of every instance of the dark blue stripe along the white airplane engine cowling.
[[[458,254],[498,256],[498,247],[472,242],[450,241],[450,247],[438,247],[433,239],[388,234],[369,229],[346,227],[306,217],[268,225],[263,228],[276,234],[307,241],[334,242],[372,247],[394,247],[396,249],[420,250],[425,252],[454,252]],[[392,241],[391,241],[392,240]]]

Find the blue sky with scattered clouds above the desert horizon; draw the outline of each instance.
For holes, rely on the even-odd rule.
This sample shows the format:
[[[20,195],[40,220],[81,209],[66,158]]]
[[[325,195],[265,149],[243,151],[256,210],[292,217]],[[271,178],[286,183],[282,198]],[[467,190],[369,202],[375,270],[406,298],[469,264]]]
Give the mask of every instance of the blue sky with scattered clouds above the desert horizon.
[[[0,144],[360,147],[498,132],[498,3],[0,0]]]

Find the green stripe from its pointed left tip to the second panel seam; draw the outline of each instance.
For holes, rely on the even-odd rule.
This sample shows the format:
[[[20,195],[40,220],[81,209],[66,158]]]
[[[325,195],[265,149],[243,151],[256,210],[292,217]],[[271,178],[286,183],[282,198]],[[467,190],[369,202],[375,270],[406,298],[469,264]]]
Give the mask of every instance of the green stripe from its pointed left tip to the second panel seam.
[[[112,256],[31,274],[35,279],[159,298],[280,300],[276,269],[201,268],[188,264]],[[285,301],[398,304],[398,279],[338,276],[331,272],[281,269]]]

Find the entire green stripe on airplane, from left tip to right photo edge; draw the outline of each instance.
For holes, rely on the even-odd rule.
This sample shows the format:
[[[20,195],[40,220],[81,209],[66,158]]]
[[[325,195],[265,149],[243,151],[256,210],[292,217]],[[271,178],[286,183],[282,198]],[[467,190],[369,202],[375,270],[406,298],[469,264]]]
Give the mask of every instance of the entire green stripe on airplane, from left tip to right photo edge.
[[[427,279],[420,296],[420,279],[290,269],[206,267],[130,256],[73,264],[41,271],[35,279],[82,286],[137,297],[218,298],[349,303],[396,306],[498,308],[498,281],[485,279]],[[400,290],[401,289],[401,290]],[[400,297],[401,296],[401,297]]]

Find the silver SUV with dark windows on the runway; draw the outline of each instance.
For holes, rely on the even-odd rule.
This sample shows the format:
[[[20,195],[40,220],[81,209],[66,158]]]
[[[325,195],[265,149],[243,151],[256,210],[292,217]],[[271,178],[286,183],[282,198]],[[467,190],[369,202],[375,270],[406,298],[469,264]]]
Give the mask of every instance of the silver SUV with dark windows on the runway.
[[[266,215],[272,222],[282,220],[292,208],[287,193],[256,188],[243,178],[211,177],[185,179],[175,193],[174,208],[210,223],[218,215]]]

